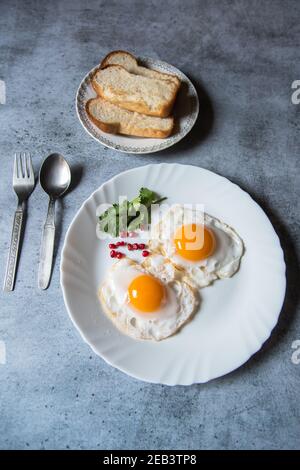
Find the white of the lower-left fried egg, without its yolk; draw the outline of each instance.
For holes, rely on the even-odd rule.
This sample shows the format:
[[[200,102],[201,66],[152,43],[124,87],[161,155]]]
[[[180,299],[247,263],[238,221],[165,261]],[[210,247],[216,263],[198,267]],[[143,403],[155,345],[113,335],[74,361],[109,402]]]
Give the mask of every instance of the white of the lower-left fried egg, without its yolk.
[[[193,315],[197,299],[186,282],[156,276],[164,285],[165,299],[155,312],[140,312],[129,303],[128,287],[141,274],[150,272],[128,258],[117,261],[100,287],[99,298],[104,312],[120,331],[135,339],[160,341],[173,335]]]

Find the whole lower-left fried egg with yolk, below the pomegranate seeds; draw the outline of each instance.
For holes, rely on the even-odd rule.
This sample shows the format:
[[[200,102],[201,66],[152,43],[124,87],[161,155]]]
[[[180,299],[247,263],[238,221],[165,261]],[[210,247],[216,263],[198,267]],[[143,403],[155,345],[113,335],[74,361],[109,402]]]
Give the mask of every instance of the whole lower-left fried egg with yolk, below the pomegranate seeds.
[[[154,276],[146,266],[128,258],[110,268],[99,297],[105,313],[120,331],[135,339],[156,341],[179,330],[197,305],[186,282],[169,281],[159,273]]]

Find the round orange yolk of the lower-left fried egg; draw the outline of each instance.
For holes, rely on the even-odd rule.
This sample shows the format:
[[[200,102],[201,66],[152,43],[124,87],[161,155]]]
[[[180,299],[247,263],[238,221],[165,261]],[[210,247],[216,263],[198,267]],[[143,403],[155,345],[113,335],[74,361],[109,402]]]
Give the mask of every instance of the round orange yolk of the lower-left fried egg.
[[[128,288],[130,304],[145,313],[157,310],[164,294],[164,286],[147,274],[136,277]]]

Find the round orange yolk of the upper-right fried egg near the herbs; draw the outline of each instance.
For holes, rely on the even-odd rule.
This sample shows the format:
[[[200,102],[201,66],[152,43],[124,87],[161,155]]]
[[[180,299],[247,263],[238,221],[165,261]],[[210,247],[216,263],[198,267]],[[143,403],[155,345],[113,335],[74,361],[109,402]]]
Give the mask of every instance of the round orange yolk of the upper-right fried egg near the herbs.
[[[215,248],[213,232],[200,224],[182,225],[175,232],[176,252],[189,261],[208,258]]]

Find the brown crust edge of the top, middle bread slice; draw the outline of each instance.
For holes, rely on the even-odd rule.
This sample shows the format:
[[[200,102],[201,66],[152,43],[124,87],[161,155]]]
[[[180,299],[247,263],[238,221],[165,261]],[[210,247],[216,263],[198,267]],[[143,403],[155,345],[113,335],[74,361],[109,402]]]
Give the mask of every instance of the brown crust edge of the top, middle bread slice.
[[[126,70],[121,65],[114,65],[114,64],[107,65],[104,68],[108,69],[110,67],[115,67],[115,68],[120,68],[120,69]],[[102,68],[101,70],[104,70],[104,68]],[[118,99],[117,97],[116,98],[110,98],[108,100],[107,97],[105,96],[100,84],[95,80],[95,75],[98,73],[98,71],[99,71],[99,69],[96,70],[94,76],[92,77],[92,86],[93,86],[95,92],[99,96],[101,96],[101,98],[103,98],[107,101],[110,101],[113,104],[116,104],[116,105],[120,106],[120,108],[127,109],[129,111],[135,111],[137,113],[146,114],[147,116],[157,116],[157,117],[162,117],[163,118],[163,117],[168,117],[171,114],[174,102],[176,100],[178,90],[174,91],[172,99],[169,102],[167,102],[165,105],[157,108],[155,111],[152,111],[151,109],[149,109],[149,107],[146,105],[146,103],[143,103],[143,102],[132,103],[132,102],[122,100],[121,98]],[[127,70],[126,70],[126,72],[127,72]],[[127,72],[127,73],[130,73],[130,72]]]

